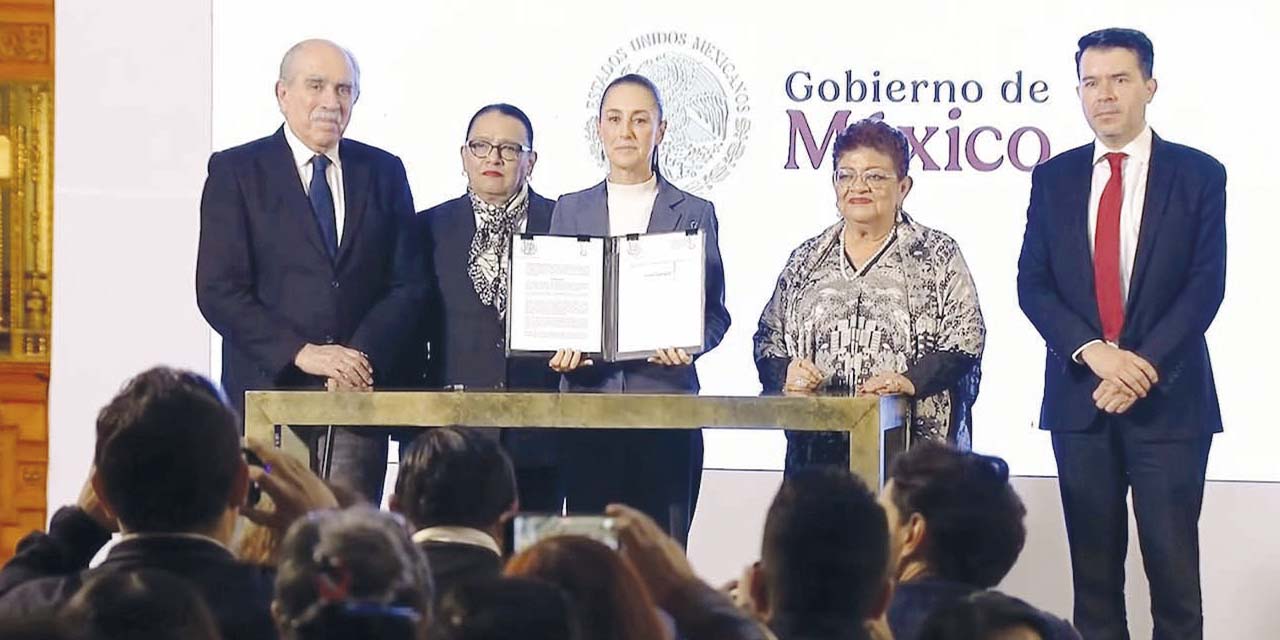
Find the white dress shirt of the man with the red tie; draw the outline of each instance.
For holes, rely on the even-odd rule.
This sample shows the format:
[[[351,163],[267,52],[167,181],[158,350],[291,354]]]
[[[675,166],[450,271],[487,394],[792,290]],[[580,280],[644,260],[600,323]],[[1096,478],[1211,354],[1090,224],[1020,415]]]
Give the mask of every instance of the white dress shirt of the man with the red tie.
[[[1142,230],[1142,207],[1147,202],[1147,174],[1151,168],[1151,127],[1144,127],[1137,138],[1123,148],[1108,148],[1101,140],[1093,141],[1093,179],[1089,182],[1089,256],[1093,256],[1093,238],[1098,227],[1098,201],[1111,179],[1111,163],[1105,155],[1119,151],[1128,156],[1120,163],[1120,301],[1129,302],[1129,284],[1133,279],[1133,261],[1138,253],[1138,233]],[[1100,340],[1089,340],[1075,349],[1071,360],[1080,362],[1085,347]]]

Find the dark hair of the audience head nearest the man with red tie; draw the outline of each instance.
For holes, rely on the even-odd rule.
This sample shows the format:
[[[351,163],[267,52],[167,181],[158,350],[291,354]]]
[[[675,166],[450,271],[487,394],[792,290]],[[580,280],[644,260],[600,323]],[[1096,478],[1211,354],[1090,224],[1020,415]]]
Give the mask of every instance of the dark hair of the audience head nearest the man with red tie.
[[[895,461],[888,494],[901,522],[925,522],[929,572],[980,589],[1000,584],[1027,541],[1027,508],[995,456],[920,443]]]

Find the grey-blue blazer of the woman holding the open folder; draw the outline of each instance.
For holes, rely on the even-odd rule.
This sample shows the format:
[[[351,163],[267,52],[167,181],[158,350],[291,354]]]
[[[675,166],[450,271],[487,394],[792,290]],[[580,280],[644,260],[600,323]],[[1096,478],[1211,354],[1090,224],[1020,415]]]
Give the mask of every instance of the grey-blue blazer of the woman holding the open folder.
[[[707,301],[704,305],[703,348],[710,351],[724,339],[728,330],[728,308],[724,307],[724,265],[719,255],[719,221],[716,205],[680,191],[658,177],[658,197],[649,215],[648,233],[703,229],[707,236]],[[556,202],[552,214],[556,236],[609,236],[609,198],[605,183],[589,189],[566,193]],[[595,362],[564,375],[562,390],[698,393],[698,371],[692,365],[662,366],[646,361]]]

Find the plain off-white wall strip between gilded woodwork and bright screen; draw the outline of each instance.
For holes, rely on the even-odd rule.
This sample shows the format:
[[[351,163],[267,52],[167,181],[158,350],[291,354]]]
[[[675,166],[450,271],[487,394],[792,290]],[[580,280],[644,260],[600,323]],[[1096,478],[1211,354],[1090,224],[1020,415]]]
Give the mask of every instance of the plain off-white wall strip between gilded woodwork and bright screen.
[[[50,516],[79,494],[95,417],[125,379],[161,362],[207,371],[195,260],[211,50],[209,0],[54,12]]]

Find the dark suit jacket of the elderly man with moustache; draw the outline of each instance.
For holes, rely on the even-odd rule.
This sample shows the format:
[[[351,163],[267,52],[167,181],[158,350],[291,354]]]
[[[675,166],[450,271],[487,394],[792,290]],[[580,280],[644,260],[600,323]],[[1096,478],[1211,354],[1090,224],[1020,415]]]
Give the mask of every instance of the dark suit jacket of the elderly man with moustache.
[[[353,140],[343,140],[338,154],[346,221],[335,260],[324,250],[283,127],[209,159],[196,300],[223,337],[223,388],[242,412],[247,389],[324,383],[293,365],[307,343],[360,349],[374,384],[403,383],[402,342],[425,300],[404,165]]]

